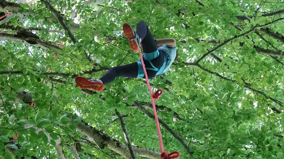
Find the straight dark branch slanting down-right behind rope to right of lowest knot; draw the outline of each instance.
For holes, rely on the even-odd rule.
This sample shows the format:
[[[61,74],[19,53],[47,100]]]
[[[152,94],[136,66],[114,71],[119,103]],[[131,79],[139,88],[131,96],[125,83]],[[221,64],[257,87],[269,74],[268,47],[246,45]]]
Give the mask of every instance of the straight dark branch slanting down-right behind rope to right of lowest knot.
[[[148,110],[146,110],[142,104],[140,102],[134,102],[134,105],[137,106],[145,115],[147,115],[148,117],[150,117],[151,119],[155,120],[155,117],[152,113],[150,113]],[[181,145],[185,148],[185,150],[190,154],[190,156],[192,156],[193,151],[189,148],[189,145],[186,143],[186,141],[181,138],[178,133],[176,133],[172,128],[169,127],[168,124],[166,124],[164,121],[162,121],[161,119],[159,119],[159,123],[161,124],[161,126],[167,130],[168,132],[170,132],[177,140],[178,142],[181,143]]]

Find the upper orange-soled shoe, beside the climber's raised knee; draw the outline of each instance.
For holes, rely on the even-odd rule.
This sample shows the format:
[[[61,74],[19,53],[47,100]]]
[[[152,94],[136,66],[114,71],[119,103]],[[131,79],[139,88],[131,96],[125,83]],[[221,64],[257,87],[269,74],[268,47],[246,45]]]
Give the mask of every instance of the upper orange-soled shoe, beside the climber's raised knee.
[[[124,23],[122,28],[125,36],[129,40],[131,50],[137,52],[141,47],[141,38],[129,24]]]

